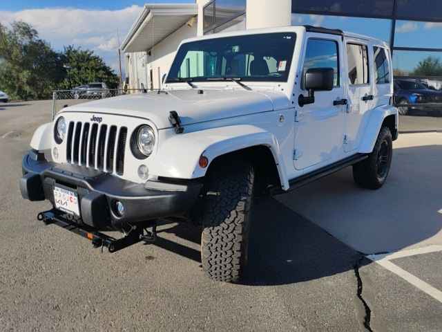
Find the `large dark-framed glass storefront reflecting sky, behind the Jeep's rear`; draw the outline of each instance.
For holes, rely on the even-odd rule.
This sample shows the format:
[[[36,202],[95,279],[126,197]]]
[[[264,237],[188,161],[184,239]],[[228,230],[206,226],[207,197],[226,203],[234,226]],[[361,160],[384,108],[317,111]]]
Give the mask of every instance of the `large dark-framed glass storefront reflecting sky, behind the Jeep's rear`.
[[[292,25],[325,26],[392,44],[401,132],[442,130],[441,0],[292,0]],[[374,50],[376,80],[385,51]]]

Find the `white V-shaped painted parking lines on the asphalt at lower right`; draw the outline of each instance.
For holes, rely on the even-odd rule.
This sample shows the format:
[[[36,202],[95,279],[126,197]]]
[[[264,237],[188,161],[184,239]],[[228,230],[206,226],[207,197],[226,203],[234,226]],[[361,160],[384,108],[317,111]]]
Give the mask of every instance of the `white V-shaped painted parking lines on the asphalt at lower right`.
[[[398,252],[392,252],[381,255],[368,255],[367,258],[376,262],[380,266],[383,266],[390,272],[394,273],[395,275],[398,275],[399,277],[406,280],[416,288],[419,288],[424,293],[427,293],[427,295],[430,295],[431,297],[442,303],[442,292],[439,291],[439,289],[434,288],[433,286],[427,284],[426,282],[423,282],[423,280],[419,279],[418,277],[415,277],[411,273],[403,270],[402,268],[391,262],[391,259],[410,257],[414,255],[421,255],[421,254],[427,254],[430,252],[438,252],[438,251],[442,251],[442,246],[434,245],[434,246],[427,246],[417,249],[402,250]]]

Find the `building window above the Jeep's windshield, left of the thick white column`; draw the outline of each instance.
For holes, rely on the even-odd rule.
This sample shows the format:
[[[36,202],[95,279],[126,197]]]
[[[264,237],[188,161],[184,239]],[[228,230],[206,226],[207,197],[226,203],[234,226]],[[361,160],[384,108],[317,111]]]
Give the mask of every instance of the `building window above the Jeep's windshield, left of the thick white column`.
[[[242,28],[247,0],[215,0],[204,7],[204,34],[217,33],[231,26]],[[245,24],[244,24],[245,28]],[[239,30],[239,28],[233,29]]]

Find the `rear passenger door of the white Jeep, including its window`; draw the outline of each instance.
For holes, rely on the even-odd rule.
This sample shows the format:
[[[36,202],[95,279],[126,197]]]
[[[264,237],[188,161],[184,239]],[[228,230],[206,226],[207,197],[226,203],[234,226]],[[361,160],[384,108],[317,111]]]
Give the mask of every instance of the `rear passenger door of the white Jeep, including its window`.
[[[369,49],[364,39],[346,38],[347,59],[347,119],[345,124],[345,152],[359,147],[373,107],[372,77],[370,75]]]

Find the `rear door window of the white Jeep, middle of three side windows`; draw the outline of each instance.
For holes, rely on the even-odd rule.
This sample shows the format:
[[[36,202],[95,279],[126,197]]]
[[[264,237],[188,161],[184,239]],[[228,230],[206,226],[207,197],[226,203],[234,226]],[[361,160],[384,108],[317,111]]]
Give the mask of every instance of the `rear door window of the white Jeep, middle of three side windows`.
[[[347,67],[350,85],[368,84],[367,46],[347,44]]]

